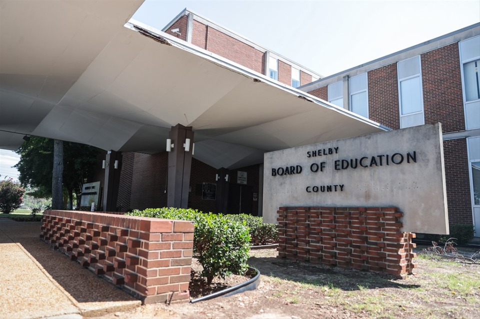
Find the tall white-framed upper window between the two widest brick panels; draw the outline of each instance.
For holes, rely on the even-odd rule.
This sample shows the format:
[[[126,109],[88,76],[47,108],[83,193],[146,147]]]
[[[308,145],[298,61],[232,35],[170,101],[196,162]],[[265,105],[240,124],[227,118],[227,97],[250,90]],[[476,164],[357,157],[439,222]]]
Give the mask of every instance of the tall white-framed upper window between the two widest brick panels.
[[[423,125],[420,56],[397,63],[400,128]]]

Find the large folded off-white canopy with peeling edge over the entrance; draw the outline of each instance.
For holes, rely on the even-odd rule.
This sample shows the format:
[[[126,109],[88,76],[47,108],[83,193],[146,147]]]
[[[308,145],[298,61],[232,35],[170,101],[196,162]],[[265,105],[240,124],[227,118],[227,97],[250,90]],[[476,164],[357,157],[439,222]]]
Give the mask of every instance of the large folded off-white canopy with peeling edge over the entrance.
[[[195,158],[237,168],[265,151],[387,130],[140,22],[125,25],[141,2],[0,1],[0,148],[36,135],[158,153],[179,123],[195,132]]]

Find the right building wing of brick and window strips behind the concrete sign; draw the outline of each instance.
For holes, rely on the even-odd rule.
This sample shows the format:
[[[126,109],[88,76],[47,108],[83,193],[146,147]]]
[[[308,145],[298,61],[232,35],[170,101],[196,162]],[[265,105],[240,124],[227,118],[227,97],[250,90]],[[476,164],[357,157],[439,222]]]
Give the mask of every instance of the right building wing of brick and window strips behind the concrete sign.
[[[480,237],[479,34],[470,25],[299,89],[392,129],[440,122],[449,224]]]

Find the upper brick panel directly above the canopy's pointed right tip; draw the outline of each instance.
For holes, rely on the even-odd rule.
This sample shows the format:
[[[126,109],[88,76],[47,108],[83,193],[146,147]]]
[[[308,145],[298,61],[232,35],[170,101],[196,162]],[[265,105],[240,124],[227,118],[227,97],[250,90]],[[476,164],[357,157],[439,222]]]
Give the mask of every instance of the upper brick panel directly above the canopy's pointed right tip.
[[[393,129],[400,128],[396,63],[367,74],[368,118]]]

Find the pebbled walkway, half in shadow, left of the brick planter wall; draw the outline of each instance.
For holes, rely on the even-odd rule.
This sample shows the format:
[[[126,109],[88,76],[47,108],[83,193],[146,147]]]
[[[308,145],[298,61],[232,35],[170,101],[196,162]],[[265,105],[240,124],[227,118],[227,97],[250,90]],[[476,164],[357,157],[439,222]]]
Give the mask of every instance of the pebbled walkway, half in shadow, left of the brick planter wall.
[[[140,306],[39,234],[39,222],[0,219],[0,318],[96,317]]]

